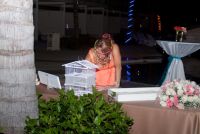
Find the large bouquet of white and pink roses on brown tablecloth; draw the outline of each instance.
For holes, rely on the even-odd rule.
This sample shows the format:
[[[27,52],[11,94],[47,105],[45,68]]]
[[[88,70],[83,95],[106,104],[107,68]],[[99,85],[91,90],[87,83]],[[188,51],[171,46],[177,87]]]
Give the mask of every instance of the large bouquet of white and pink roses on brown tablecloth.
[[[189,80],[165,82],[161,86],[159,99],[163,107],[200,108],[200,86]]]

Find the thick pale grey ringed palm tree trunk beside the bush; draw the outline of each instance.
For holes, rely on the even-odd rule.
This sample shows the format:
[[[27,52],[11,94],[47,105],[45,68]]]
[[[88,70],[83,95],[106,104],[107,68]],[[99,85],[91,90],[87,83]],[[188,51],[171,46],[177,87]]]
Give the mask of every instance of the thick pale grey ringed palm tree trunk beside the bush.
[[[26,116],[37,118],[33,0],[0,1],[0,126],[22,134]]]

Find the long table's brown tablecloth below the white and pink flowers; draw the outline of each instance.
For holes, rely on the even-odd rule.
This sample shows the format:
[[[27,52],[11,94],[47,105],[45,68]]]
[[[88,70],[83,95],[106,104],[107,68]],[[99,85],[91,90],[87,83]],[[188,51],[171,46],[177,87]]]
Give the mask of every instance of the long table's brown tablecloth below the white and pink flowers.
[[[130,134],[200,134],[200,110],[169,109],[158,102],[127,102],[122,105],[134,119]]]

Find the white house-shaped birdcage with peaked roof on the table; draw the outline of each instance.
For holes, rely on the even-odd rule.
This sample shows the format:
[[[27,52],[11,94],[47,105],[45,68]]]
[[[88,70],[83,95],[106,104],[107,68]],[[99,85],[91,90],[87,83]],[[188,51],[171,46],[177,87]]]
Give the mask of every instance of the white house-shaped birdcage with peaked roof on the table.
[[[74,90],[76,95],[92,93],[92,87],[96,86],[96,66],[87,61],[74,61],[65,66],[65,89]]]

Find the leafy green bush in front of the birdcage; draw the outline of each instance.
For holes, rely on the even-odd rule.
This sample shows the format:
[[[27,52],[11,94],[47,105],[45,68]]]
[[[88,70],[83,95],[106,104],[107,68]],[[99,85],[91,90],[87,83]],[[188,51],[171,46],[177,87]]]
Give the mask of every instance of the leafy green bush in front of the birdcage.
[[[107,102],[102,93],[81,97],[59,90],[59,97],[39,98],[39,118],[27,117],[26,134],[127,134],[133,125],[117,102]]]

